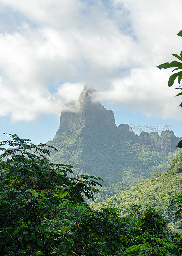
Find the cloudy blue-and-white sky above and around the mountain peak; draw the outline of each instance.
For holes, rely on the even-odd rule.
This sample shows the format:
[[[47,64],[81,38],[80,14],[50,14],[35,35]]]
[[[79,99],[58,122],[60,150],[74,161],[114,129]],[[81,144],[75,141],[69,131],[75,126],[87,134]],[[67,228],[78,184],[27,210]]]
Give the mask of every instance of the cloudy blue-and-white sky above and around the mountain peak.
[[[156,68],[182,49],[181,11],[181,0],[0,0],[0,133],[51,140],[90,84],[117,125],[182,136],[178,84]]]

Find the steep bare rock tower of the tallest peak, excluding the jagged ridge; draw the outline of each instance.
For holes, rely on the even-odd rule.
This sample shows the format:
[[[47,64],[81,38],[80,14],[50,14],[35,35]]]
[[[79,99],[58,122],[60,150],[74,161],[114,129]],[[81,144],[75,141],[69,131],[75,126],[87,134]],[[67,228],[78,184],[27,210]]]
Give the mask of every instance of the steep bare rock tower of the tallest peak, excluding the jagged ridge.
[[[96,98],[96,91],[84,87],[78,100],[78,109],[75,112],[61,113],[60,126],[56,137],[68,129],[83,127],[94,131],[107,131],[116,129],[115,118],[112,110],[104,108]]]

